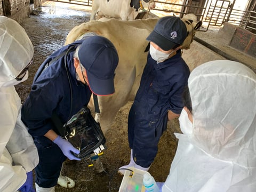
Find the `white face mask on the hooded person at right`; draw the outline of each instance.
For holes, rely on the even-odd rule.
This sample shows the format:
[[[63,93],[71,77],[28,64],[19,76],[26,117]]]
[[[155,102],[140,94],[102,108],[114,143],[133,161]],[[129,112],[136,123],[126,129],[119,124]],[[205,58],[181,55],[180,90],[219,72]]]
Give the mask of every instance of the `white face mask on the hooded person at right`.
[[[184,134],[193,133],[193,123],[189,120],[188,113],[184,108],[180,113],[179,122],[180,122],[180,130],[182,131],[182,133]]]

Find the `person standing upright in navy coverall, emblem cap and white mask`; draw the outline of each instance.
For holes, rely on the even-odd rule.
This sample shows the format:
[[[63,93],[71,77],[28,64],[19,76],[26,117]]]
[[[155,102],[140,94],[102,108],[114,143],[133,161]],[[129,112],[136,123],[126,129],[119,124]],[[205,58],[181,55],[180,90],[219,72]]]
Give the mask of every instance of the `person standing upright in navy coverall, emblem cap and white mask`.
[[[185,23],[172,16],[159,19],[147,37],[147,64],[128,119],[131,159],[129,165],[121,168],[133,166],[148,171],[167,121],[181,113],[182,94],[190,73],[180,50],[186,37]]]

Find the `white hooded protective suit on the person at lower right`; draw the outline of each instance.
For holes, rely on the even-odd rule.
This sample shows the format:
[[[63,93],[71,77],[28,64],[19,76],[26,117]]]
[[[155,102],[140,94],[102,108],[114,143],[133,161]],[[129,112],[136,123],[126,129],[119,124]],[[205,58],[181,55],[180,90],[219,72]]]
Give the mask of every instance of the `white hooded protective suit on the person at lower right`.
[[[179,139],[162,191],[256,191],[256,75],[217,60],[188,79],[193,127]],[[189,134],[190,132],[190,134]]]

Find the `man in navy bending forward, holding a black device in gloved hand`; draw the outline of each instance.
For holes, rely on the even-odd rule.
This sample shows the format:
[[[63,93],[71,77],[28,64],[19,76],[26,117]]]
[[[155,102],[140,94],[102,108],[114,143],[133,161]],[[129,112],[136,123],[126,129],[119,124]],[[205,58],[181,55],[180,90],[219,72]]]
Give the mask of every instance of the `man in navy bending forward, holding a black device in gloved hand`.
[[[45,63],[51,61],[51,65],[42,70]],[[54,191],[67,157],[79,160],[73,154],[79,150],[61,138],[53,125],[53,113],[65,124],[87,105],[92,93],[113,94],[117,63],[114,45],[105,37],[91,35],[63,46],[38,69],[21,110],[22,121],[33,136],[39,154],[35,168],[37,192]]]

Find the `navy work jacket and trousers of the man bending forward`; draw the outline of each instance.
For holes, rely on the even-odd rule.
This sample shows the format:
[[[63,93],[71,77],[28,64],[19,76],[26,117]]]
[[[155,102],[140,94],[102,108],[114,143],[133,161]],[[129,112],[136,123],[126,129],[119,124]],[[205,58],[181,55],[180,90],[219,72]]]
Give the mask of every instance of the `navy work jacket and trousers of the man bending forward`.
[[[44,63],[51,61],[71,45],[81,44],[82,41],[62,47],[50,55]],[[22,121],[27,125],[28,132],[34,138],[38,149],[39,164],[35,168],[36,183],[43,188],[57,185],[61,165],[67,158],[55,143],[44,137],[44,134],[51,129],[58,134],[51,121],[53,111],[56,111],[64,124],[68,121],[68,118],[75,115],[84,105],[87,105],[91,97],[89,86],[76,79],[73,55],[74,51],[69,52],[66,58],[63,56],[54,61],[42,71],[37,79],[34,78],[31,92],[21,109]],[[88,57],[91,57],[91,55],[88,55]],[[44,63],[42,66],[44,66]],[[41,67],[38,71],[41,70]],[[72,98],[69,83],[72,88]]]

